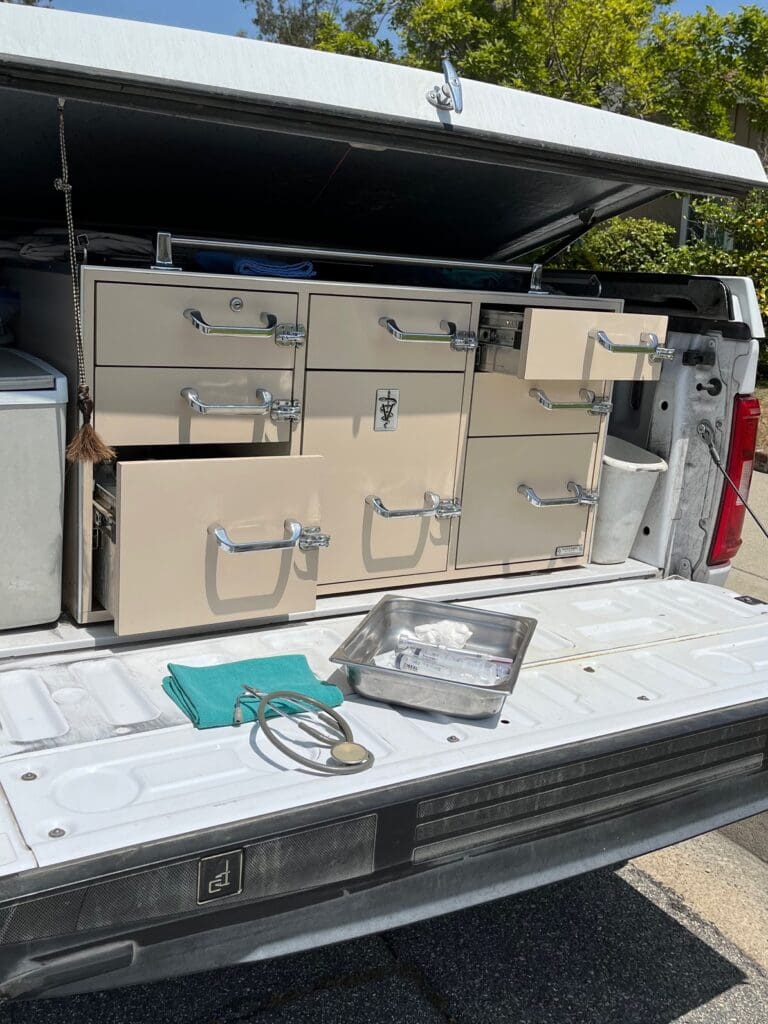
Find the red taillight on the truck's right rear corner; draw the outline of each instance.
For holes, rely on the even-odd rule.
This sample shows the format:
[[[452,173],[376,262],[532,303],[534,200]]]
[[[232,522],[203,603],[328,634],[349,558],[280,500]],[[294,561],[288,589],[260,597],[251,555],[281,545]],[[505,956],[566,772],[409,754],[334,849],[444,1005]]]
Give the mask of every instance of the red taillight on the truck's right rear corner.
[[[752,482],[752,467],[755,462],[755,445],[758,441],[760,423],[760,402],[757,398],[738,395],[733,407],[731,446],[725,471],[738,489],[749,498]],[[741,527],[744,524],[743,502],[723,480],[723,497],[715,526],[715,537],[708,559],[710,565],[729,562],[741,547]]]

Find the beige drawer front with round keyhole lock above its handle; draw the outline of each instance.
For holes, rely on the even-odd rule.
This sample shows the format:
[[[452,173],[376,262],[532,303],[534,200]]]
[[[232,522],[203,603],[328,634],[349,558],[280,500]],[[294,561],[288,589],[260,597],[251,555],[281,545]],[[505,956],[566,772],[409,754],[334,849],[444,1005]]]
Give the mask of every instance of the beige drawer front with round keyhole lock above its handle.
[[[232,300],[242,301],[239,312]],[[236,303],[237,304],[237,303]],[[293,346],[268,337],[203,334],[184,310],[195,309],[212,327],[263,329],[262,314],[296,324],[297,295],[256,291],[250,281],[220,288],[173,285],[96,285],[95,361],[110,367],[260,367],[290,369]]]

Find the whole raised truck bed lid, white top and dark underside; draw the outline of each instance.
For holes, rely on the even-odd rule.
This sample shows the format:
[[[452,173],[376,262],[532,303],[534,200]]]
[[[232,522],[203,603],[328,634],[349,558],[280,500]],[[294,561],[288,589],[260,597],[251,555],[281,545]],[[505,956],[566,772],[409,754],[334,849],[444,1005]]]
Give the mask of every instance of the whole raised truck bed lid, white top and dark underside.
[[[56,97],[91,225],[508,260],[670,191],[766,186],[756,153],[442,73],[0,4],[0,188],[60,218]],[[14,204],[17,206],[17,204]]]

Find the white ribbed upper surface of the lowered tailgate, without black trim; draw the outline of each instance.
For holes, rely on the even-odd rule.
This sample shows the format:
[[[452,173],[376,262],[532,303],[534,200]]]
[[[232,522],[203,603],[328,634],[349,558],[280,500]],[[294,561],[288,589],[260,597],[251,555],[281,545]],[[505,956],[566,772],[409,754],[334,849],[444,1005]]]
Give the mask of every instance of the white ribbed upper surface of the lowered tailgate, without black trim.
[[[38,863],[59,863],[131,846],[137,838],[152,842],[268,815],[766,693],[768,606],[742,604],[724,591],[648,581],[477,603],[540,618],[500,719],[459,724],[348,698],[344,714],[374,752],[376,767],[344,778],[314,777],[276,762],[256,729],[196,731],[160,682],[169,660],[210,665],[288,652],[305,653],[318,675],[338,681],[328,655],[355,617],[131,647],[58,665],[9,665],[0,673],[3,726],[3,710],[18,686],[37,679],[49,694],[35,718],[36,734],[47,729],[49,735],[5,742],[0,761],[0,782],[27,844]],[[94,700],[97,686],[103,693]],[[37,778],[24,780],[28,772]],[[49,836],[59,828],[62,837]]]

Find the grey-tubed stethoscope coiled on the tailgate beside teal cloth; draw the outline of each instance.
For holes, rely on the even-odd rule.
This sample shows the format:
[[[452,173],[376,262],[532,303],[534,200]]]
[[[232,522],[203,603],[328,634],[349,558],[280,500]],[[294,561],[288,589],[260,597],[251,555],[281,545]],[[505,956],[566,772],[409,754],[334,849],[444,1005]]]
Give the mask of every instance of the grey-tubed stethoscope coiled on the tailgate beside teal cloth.
[[[243,725],[245,717],[242,701],[248,697],[255,697],[259,701],[256,708],[256,718],[266,738],[282,754],[296,761],[297,764],[311,768],[313,771],[325,772],[328,775],[351,775],[354,772],[366,771],[374,763],[371,751],[356,742],[349,723],[334,708],[322,700],[316,700],[314,697],[306,696],[304,693],[297,693],[295,690],[274,690],[271,693],[263,693],[253,686],[244,686],[243,692],[234,698],[232,725]],[[305,710],[289,714],[281,708],[280,701],[298,705],[300,709]],[[266,717],[267,711],[273,712],[289,722],[294,722],[302,732],[311,736],[321,746],[328,748],[331,754],[331,763],[323,764],[311,758],[305,758],[281,739],[269,725],[269,720]],[[302,721],[299,715],[303,714],[316,714],[317,720],[330,732],[315,729],[308,722]]]

